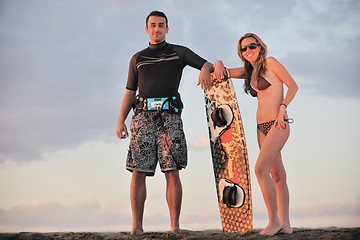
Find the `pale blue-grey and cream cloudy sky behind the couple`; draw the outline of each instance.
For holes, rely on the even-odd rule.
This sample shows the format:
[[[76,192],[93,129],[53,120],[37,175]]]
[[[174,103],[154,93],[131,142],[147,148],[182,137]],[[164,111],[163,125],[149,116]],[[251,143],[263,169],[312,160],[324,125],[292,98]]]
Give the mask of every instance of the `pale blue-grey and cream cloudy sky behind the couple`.
[[[117,117],[145,18],[169,19],[167,41],[237,67],[254,32],[299,91],[283,151],[294,227],[360,227],[360,2],[356,0],[0,0],[0,232],[129,231],[129,139]],[[188,167],[183,229],[221,229],[199,71],[186,67]],[[256,99],[234,79],[244,123],[254,228],[267,224],[254,175]],[[132,113],[126,123],[129,125]],[[169,230],[165,178],[147,178],[145,231]]]

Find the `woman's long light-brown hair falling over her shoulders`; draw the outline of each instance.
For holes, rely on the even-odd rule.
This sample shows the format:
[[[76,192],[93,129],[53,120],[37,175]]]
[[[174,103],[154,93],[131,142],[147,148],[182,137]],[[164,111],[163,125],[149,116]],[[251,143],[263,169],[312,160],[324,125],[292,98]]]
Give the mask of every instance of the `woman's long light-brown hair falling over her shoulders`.
[[[244,68],[245,68],[245,81],[244,81],[244,90],[245,93],[249,93],[250,91],[250,81],[251,81],[251,75],[252,72],[254,70],[253,66],[251,65],[251,63],[249,61],[247,61],[244,56],[242,55],[241,50],[241,42],[248,37],[252,37],[256,40],[257,44],[260,44],[260,52],[259,52],[259,56],[255,62],[255,77],[256,79],[259,79],[262,75],[265,74],[266,72],[266,56],[267,56],[267,47],[266,44],[254,33],[246,33],[244,36],[242,36],[239,39],[238,42],[238,55],[240,57],[240,59],[244,62]]]

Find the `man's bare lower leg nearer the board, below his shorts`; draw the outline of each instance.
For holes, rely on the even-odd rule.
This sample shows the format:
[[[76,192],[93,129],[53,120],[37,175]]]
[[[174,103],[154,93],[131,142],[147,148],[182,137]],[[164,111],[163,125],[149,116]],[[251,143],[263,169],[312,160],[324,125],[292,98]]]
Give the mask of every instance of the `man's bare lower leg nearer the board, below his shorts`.
[[[180,211],[182,201],[182,186],[179,176],[179,170],[165,172],[166,177],[166,200],[170,211],[171,232],[180,231]]]

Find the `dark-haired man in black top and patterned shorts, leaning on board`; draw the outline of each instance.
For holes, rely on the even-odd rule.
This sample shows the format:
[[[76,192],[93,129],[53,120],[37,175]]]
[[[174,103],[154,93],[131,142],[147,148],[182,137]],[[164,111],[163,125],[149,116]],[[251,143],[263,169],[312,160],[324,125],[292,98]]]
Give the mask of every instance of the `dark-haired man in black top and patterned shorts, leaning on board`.
[[[145,30],[150,38],[149,47],[131,58],[116,130],[119,138],[128,136],[125,119],[131,108],[135,107],[126,161],[126,169],[132,172],[131,234],[144,231],[145,178],[154,176],[158,161],[166,177],[170,228],[177,233],[180,231],[182,201],[179,170],[187,165],[187,147],[181,120],[182,102],[178,88],[183,68],[187,65],[200,70],[198,85],[209,88],[213,65],[188,48],[165,41],[169,27],[164,13],[151,12],[146,18]]]

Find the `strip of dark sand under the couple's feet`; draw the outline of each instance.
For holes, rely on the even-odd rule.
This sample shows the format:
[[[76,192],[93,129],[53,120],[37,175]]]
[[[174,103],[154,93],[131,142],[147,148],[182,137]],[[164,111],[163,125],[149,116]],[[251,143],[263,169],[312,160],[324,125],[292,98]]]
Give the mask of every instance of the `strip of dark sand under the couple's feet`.
[[[182,230],[181,233],[170,232],[146,232],[142,235],[131,236],[129,232],[19,232],[0,233],[1,240],[26,239],[26,240],[60,240],[60,239],[94,239],[94,240],[115,240],[115,239],[360,239],[360,228],[294,228],[291,235],[277,234],[272,237],[260,236],[260,230],[251,233],[223,233],[221,230],[190,231]]]

